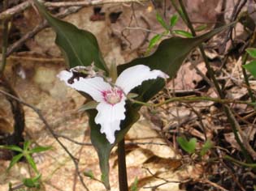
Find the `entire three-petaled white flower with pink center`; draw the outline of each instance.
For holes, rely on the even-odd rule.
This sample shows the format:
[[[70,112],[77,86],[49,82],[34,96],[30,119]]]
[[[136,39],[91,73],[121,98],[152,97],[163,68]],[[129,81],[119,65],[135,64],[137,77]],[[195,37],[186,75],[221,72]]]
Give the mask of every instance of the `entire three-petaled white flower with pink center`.
[[[78,74],[73,69],[61,71],[58,77],[67,86],[77,91],[84,91],[99,103],[96,108],[98,114],[95,123],[101,125],[101,133],[106,134],[106,139],[114,143],[115,131],[120,129],[120,122],[125,118],[124,105],[129,91],[145,80],[158,77],[167,79],[169,76],[160,70],[150,70],[148,66],[137,65],[124,70],[116,79],[115,86],[106,83],[99,76],[85,78],[83,74]]]

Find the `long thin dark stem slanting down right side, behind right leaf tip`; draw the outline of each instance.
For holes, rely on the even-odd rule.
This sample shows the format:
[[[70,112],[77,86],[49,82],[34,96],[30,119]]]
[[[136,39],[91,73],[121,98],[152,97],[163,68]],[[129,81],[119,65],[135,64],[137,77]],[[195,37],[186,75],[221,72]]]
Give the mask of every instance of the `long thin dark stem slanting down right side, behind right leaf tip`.
[[[192,23],[189,19],[189,15],[188,15],[185,7],[184,7],[183,1],[179,0],[179,3],[180,3],[180,8],[183,11],[184,19],[186,21],[185,23],[188,25],[188,27],[189,27],[190,31],[192,32],[193,36],[197,36],[197,34],[196,34],[196,32],[193,28],[193,25],[192,25]],[[202,53],[202,57],[204,59],[204,62],[206,63],[206,69],[207,69],[207,71],[210,75],[210,79],[213,81],[213,83],[215,85],[215,89],[216,89],[217,93],[219,94],[219,97],[221,99],[224,99],[225,96],[223,94],[223,91],[219,87],[219,83],[218,83],[217,79],[215,78],[215,73],[210,67],[210,63],[208,62],[208,58],[206,57],[206,53],[204,52],[204,49],[203,49],[202,45],[199,45],[199,49]],[[226,115],[228,117],[228,122],[232,127],[232,131],[233,131],[233,134],[235,135],[236,142],[241,147],[242,154],[245,156],[245,159],[246,159],[247,162],[251,162],[248,151],[245,149],[245,146],[244,146],[243,142],[241,142],[241,139],[240,139],[240,137],[237,133],[239,131],[239,129],[241,129],[240,125],[236,121],[236,118],[233,116],[232,111],[230,110],[230,108],[228,108],[227,105],[223,105],[223,110],[224,110],[224,112],[226,113]],[[243,132],[241,131],[241,133],[243,133]],[[241,137],[244,137],[244,136],[241,134]],[[245,140],[243,140],[243,141],[245,141]]]

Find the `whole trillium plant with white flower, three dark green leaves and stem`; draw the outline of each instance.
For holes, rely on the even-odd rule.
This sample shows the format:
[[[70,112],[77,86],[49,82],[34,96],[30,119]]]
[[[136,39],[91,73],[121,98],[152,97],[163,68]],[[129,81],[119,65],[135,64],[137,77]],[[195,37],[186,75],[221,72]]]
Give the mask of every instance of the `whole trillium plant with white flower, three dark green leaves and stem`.
[[[102,182],[106,189],[110,189],[108,160],[113,146],[118,143],[119,188],[126,191],[128,185],[125,173],[124,136],[139,119],[138,111],[141,107],[134,103],[134,100],[136,99],[137,103],[150,100],[163,89],[164,79],[175,77],[191,50],[227,26],[195,38],[175,36],[165,39],[154,53],[120,64],[113,72],[114,70],[108,70],[106,67],[98,41],[91,32],[56,19],[40,2],[33,2],[56,32],[56,45],[65,57],[69,70],[61,71],[59,79],[68,87],[85,92],[97,102],[88,113],[90,138],[98,152]],[[107,75],[111,75],[111,78]],[[130,92],[137,94],[133,102],[128,101],[132,100]]]

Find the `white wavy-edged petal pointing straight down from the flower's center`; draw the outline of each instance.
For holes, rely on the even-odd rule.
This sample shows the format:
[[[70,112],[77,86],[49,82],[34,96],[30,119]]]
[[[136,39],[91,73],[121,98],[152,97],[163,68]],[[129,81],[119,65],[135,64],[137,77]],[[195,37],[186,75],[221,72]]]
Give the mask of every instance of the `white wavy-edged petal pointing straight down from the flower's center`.
[[[106,102],[98,104],[98,114],[95,117],[95,123],[101,125],[101,133],[106,134],[106,139],[112,143],[115,142],[115,131],[120,129],[120,122],[124,120],[125,100],[118,104],[111,105]]]

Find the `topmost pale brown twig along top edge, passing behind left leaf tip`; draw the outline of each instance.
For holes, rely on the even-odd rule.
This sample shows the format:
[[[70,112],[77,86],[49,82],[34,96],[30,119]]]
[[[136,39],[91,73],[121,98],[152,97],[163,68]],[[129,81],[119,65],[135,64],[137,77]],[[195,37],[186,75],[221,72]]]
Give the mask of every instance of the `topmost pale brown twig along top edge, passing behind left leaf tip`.
[[[61,7],[61,6],[97,6],[109,3],[123,3],[123,2],[147,2],[149,0],[93,0],[93,1],[80,1],[80,2],[45,2],[45,6],[51,7]],[[14,6],[7,11],[0,13],[0,20],[7,19],[11,16],[20,13],[21,11],[26,10],[31,6],[31,2],[26,1],[22,2],[17,6]]]

